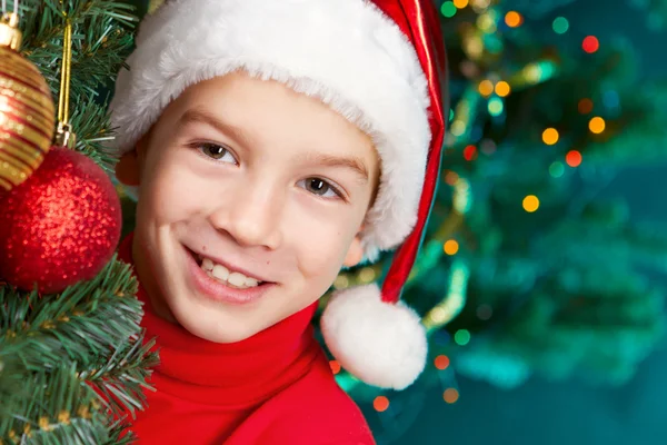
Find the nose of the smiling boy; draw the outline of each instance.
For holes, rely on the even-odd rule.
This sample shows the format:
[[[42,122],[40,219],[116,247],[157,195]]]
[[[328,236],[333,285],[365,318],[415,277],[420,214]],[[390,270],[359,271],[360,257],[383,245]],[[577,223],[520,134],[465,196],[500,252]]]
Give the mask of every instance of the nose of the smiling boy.
[[[282,240],[280,220],[282,199],[277,187],[255,184],[227,190],[210,215],[211,224],[243,247],[266,247],[275,250]]]

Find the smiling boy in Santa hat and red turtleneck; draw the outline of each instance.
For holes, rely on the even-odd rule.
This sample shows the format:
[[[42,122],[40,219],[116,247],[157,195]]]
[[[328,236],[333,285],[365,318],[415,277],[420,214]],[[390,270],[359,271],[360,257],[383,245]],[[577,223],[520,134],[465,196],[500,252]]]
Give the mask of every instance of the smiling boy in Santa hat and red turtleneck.
[[[322,333],[402,389],[427,342],[399,301],[438,179],[444,51],[425,0],[176,0],[141,26],[111,103],[121,246],[161,364],[140,444],[372,444],[310,327],[341,266],[402,243]],[[360,335],[361,334],[361,335]]]

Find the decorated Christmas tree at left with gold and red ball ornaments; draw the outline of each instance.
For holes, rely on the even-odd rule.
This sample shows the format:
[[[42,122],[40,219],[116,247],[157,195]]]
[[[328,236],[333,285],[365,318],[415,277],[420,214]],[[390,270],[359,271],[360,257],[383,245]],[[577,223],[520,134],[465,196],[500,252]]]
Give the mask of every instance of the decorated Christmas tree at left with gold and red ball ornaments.
[[[0,52],[0,164],[4,162],[0,171],[0,270],[4,271],[0,274],[0,444],[125,443],[131,435],[123,432],[128,419],[121,414],[142,407],[142,389],[156,363],[149,353],[152,344],[145,343],[139,327],[137,283],[130,267],[116,257],[96,266],[91,279],[77,279],[77,274],[90,273],[87,263],[92,264],[96,255],[96,246],[86,241],[109,244],[108,233],[98,226],[93,229],[100,231],[90,238],[84,235],[90,235],[89,228],[69,230],[68,224],[81,224],[81,209],[73,207],[94,198],[60,197],[68,187],[76,190],[81,184],[88,194],[100,191],[89,181],[92,177],[109,181],[89,159],[107,171],[112,168],[113,159],[102,149],[103,141],[113,137],[102,91],[132,44],[137,18],[131,7],[117,1],[18,3],[2,2],[3,12],[16,14],[4,14],[0,29],[7,43]],[[22,46],[13,31],[17,19]],[[59,100],[61,144],[76,152],[48,147],[53,100]],[[78,137],[76,144],[70,129]],[[48,152],[28,156],[40,140]],[[53,168],[58,159],[67,164]],[[58,189],[58,176],[67,179],[64,189]],[[78,185],[72,186],[73,179]],[[119,207],[108,184],[109,202],[116,200]],[[32,192],[26,190],[36,187],[34,199],[22,199]],[[34,227],[24,227],[34,215],[14,214],[44,206],[44,219]],[[21,230],[28,236],[18,236]],[[72,247],[80,255],[60,263],[46,254],[30,254],[41,249],[62,255]],[[109,255],[115,243],[110,247]],[[34,288],[22,285],[26,270],[36,273]],[[58,283],[48,277],[53,271],[60,273]],[[68,286],[60,288],[63,283]]]

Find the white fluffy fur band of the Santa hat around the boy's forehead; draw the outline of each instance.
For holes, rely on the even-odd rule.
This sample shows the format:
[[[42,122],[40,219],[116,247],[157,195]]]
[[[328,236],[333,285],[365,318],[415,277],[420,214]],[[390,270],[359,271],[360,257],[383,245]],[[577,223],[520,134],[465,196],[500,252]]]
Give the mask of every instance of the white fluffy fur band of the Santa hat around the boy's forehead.
[[[381,182],[365,258],[398,246],[417,219],[430,142],[427,80],[414,46],[367,0],[172,0],[146,18],[111,102],[130,150],[199,81],[246,70],[317,97],[366,131]]]

